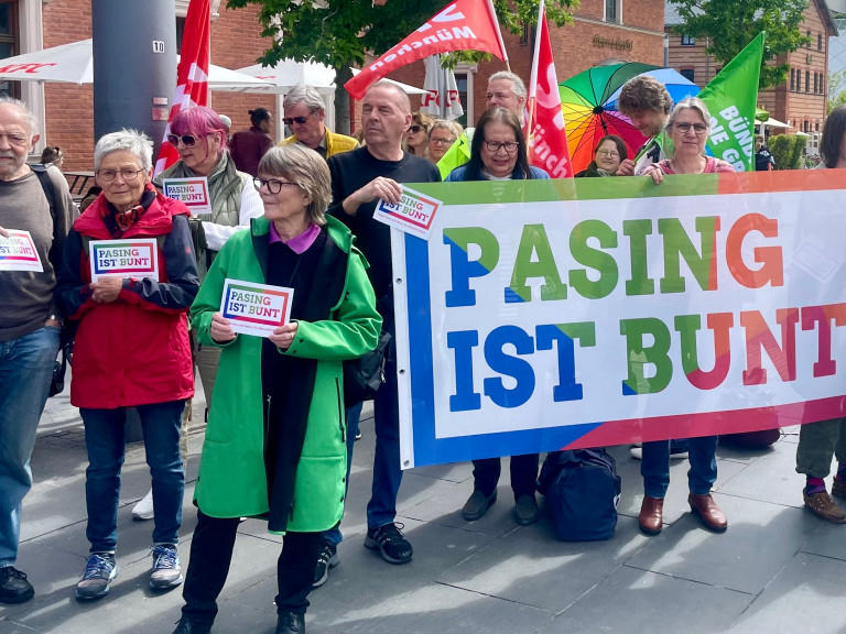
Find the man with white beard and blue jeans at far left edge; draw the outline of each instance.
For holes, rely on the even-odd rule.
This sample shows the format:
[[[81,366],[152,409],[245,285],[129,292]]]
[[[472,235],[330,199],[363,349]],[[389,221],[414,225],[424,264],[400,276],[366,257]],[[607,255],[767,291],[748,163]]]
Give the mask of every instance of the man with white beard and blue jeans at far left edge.
[[[26,156],[39,141],[35,118],[17,99],[0,98],[0,236],[28,231],[42,271],[0,271],[0,602],[35,594],[14,567],[21,503],[32,487],[30,456],[47,401],[62,321],[53,299],[56,272],[74,215],[56,167],[36,173]],[[42,181],[45,178],[45,181]],[[52,200],[48,199],[48,194]]]

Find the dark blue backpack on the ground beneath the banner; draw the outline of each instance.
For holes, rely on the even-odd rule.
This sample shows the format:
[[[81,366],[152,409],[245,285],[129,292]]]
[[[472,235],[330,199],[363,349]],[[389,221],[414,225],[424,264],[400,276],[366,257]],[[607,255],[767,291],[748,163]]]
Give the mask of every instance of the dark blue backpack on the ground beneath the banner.
[[[558,539],[596,542],[614,535],[620,477],[605,449],[547,453],[538,491],[546,498]]]

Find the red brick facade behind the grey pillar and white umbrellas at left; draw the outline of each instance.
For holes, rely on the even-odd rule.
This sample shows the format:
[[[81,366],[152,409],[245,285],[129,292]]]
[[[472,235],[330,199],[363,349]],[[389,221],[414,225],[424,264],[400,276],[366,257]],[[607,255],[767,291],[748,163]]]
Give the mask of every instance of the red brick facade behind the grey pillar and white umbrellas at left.
[[[143,0],[122,0],[138,1]],[[17,46],[6,50],[18,55],[39,48],[68,44],[91,36],[90,0],[0,0],[10,7],[13,22],[9,31]],[[177,31],[187,11],[187,0],[176,0]],[[260,36],[261,24],[256,7],[229,10],[225,0],[213,0],[212,63],[226,68],[242,68],[269,46]],[[0,29],[2,31],[2,29]],[[177,37],[178,40],[178,37]],[[2,51],[2,50],[0,50]],[[4,56],[4,55],[3,55]],[[94,164],[94,87],[74,84],[22,81],[20,97],[42,123],[42,143],[58,145],[65,153],[65,171],[87,171]],[[249,128],[247,111],[262,106],[275,109],[275,99],[264,95],[212,92],[212,106],[232,119],[232,131]]]

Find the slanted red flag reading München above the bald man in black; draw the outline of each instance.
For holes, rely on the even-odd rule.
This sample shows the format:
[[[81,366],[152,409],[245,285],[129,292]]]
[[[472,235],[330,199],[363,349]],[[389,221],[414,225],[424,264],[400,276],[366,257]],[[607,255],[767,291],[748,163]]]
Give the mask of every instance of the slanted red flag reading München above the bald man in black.
[[[508,62],[492,2],[485,2],[484,9],[479,4],[479,0],[455,0],[447,4],[379,59],[365,66],[344,87],[355,99],[361,99],[368,86],[397,68],[448,51],[484,51]]]

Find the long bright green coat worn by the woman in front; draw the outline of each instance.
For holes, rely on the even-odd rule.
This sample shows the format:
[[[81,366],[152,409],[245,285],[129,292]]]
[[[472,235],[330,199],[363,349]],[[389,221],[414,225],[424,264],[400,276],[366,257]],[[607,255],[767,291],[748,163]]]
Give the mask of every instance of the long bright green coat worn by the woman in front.
[[[344,225],[330,217],[326,221],[328,239],[348,255],[345,288],[333,308],[336,320],[299,321],[295,340],[284,352],[318,361],[286,526],[295,532],[325,531],[340,521],[347,463],[341,361],[376,348],[381,328],[364,256],[352,249],[352,236]],[[267,219],[253,219],[251,230],[234,234],[215,259],[191,308],[200,345],[216,346],[209,326],[220,310],[227,277],[264,283],[253,236],[267,236],[269,227]],[[269,512],[261,343],[259,337],[238,335],[221,347],[194,492],[197,506],[212,517]]]

